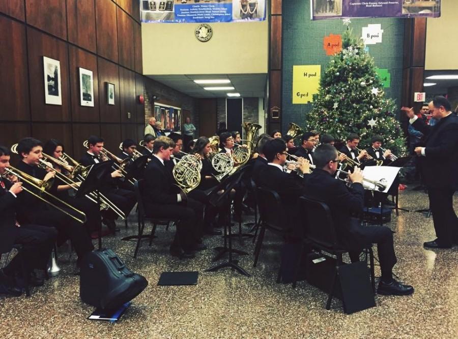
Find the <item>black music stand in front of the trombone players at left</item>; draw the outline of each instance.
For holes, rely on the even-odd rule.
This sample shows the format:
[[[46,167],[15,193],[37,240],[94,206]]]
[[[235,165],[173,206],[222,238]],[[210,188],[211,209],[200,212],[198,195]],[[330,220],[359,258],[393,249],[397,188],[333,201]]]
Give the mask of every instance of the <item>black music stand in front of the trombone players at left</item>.
[[[103,178],[111,173],[112,161],[105,161],[99,164],[92,165],[89,169],[88,175],[81,182],[81,186],[78,187],[76,192],[77,198],[82,198],[85,195],[94,192],[97,195],[97,205],[100,210],[100,194],[99,190],[103,184]],[[102,248],[102,219],[98,223],[98,233],[99,233],[99,250]]]

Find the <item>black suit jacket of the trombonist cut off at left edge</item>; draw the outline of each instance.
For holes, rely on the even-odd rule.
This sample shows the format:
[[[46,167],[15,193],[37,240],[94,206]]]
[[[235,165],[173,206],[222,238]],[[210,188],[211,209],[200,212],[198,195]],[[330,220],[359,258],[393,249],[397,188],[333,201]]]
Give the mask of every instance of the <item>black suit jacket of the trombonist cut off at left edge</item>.
[[[8,180],[3,180],[5,189],[0,187],[0,253],[9,252],[19,233],[16,225],[17,199],[8,191],[12,184]]]

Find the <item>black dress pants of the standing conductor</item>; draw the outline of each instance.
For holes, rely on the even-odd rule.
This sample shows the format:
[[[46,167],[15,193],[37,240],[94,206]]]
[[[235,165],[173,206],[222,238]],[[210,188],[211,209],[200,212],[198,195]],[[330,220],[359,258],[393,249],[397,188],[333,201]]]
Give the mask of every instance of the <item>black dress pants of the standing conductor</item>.
[[[434,229],[441,245],[458,242],[458,219],[453,209],[453,189],[428,187]]]

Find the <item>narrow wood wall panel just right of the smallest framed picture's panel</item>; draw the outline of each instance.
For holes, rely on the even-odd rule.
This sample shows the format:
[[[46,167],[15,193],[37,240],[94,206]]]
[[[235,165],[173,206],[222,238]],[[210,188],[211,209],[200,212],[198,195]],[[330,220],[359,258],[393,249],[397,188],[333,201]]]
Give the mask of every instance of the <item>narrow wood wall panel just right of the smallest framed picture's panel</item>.
[[[134,122],[135,120],[135,75],[134,72],[119,68],[121,122]],[[128,114],[130,113],[130,118]]]

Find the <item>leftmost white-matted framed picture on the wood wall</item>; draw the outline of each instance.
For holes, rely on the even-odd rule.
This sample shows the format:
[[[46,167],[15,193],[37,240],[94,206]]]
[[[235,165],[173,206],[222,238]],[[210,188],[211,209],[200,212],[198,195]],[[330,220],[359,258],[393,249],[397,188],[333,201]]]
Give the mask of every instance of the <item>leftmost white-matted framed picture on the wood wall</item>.
[[[61,62],[43,56],[45,103],[62,105]]]

